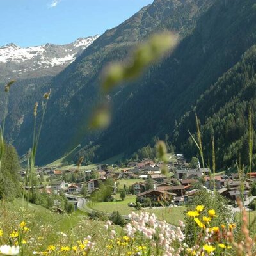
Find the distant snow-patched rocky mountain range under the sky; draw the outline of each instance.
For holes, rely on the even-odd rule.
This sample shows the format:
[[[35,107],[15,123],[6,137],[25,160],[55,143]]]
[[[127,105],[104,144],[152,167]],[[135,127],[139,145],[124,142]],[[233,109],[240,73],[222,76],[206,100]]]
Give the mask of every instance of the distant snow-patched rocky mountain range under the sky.
[[[71,44],[44,44],[22,48],[13,43],[0,47],[0,81],[18,77],[54,75],[76,60],[99,35],[78,38]]]

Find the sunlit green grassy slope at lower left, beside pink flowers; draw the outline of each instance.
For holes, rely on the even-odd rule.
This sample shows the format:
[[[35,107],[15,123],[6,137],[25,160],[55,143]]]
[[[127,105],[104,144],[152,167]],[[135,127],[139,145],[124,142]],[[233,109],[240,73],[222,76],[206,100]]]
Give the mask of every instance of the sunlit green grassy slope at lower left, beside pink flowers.
[[[26,207],[26,202],[22,204],[21,200],[0,203],[0,230],[3,231],[0,244],[9,244],[10,234],[13,230],[19,230],[19,223],[22,221],[25,221],[26,227],[29,228],[28,232],[22,235],[24,239],[22,255],[33,255],[33,251],[44,252],[51,244],[75,245],[77,241],[83,240],[89,234],[105,243],[100,232],[104,230],[104,222],[89,220],[81,211],[71,215],[56,214],[34,204],[28,204]]]

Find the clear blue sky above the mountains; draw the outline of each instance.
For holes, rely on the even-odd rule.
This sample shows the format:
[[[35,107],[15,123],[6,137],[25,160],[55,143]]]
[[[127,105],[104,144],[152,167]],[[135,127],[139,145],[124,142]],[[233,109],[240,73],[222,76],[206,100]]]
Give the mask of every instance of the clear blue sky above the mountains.
[[[0,0],[0,46],[67,44],[102,34],[153,0]]]

